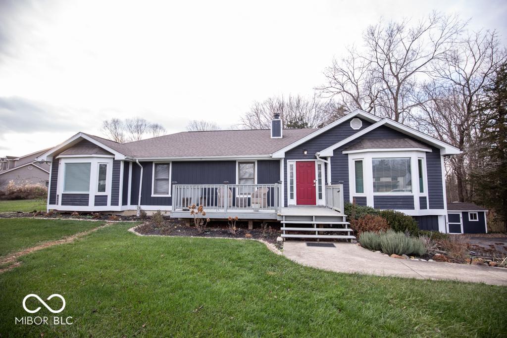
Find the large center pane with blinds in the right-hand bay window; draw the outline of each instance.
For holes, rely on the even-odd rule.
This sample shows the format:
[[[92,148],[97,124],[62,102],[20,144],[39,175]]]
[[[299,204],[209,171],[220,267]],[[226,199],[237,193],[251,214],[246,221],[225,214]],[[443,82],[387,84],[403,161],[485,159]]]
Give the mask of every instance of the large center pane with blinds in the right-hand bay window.
[[[372,159],[374,193],[412,193],[410,158]]]

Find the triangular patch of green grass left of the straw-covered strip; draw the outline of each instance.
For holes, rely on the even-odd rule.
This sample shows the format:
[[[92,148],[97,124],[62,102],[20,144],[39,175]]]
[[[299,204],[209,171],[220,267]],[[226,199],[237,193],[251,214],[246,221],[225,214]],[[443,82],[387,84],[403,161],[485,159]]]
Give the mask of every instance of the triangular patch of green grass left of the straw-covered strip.
[[[103,222],[33,218],[0,219],[0,256],[99,227]]]

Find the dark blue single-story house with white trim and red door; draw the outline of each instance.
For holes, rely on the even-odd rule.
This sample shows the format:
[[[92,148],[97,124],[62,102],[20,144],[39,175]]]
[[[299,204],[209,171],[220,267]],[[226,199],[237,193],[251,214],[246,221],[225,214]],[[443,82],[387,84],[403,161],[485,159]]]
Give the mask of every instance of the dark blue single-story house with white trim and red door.
[[[450,144],[356,110],[320,129],[181,132],[117,143],[78,133],[39,157],[51,162],[48,209],[165,210],[190,218],[280,220],[283,237],[354,238],[343,204],[394,209],[446,231]],[[296,234],[294,232],[297,232]],[[303,234],[301,234],[303,232]]]

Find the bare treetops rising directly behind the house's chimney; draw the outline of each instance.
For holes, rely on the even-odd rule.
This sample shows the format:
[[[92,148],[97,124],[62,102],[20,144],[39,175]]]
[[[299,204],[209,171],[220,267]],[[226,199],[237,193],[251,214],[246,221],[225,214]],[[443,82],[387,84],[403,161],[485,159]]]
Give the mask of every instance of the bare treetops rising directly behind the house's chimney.
[[[275,96],[263,102],[253,102],[241,118],[246,129],[269,129],[273,116],[278,114],[284,128],[320,128],[344,115],[344,109],[335,101],[322,101],[316,95]]]

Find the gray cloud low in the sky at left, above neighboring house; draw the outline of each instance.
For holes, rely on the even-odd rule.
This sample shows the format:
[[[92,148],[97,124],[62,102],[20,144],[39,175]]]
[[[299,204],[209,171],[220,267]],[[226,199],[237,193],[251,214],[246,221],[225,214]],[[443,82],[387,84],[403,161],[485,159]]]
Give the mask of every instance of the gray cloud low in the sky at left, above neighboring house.
[[[12,132],[76,130],[83,127],[81,121],[86,121],[83,113],[22,97],[0,97],[0,138]]]

